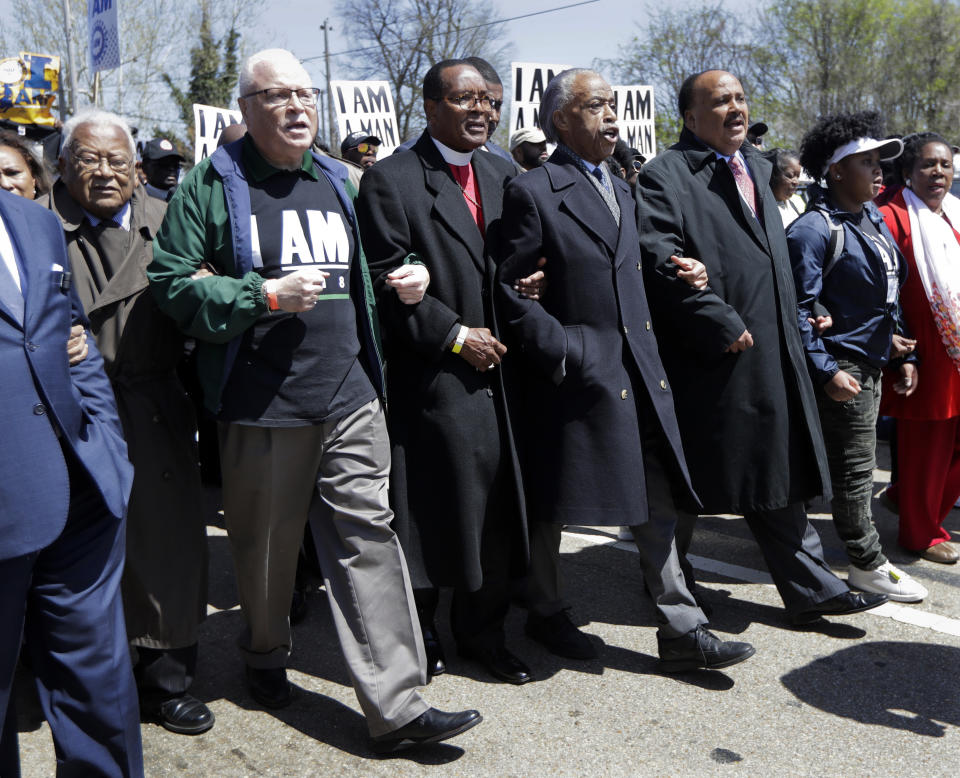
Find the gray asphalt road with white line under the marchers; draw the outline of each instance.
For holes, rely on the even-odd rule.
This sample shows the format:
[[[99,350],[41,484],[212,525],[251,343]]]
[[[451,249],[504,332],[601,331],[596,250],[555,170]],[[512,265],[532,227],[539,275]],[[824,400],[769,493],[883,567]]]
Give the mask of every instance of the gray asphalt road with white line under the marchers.
[[[887,479],[877,471],[876,491]],[[714,608],[712,628],[750,641],[757,654],[726,671],[677,676],[657,672],[653,610],[630,545],[615,533],[571,528],[562,564],[572,617],[602,643],[599,658],[551,656],[524,637],[523,614],[514,609],[508,642],[537,681],[513,687],[453,655],[441,625],[449,669],[425,696],[446,710],[477,708],[484,721],[449,743],[390,759],[368,748],[322,590],[311,594],[310,613],[295,628],[294,704],[266,711],[246,694],[234,648],[241,616],[227,539],[211,511],[210,617],[193,692],[217,724],[192,738],[143,725],[147,774],[955,775],[960,566],[901,551],[896,517],[876,501],[874,511],[888,556],[924,583],[929,598],[803,631],[786,625],[744,522],[702,519],[692,550]],[[828,562],[845,577],[829,506],[814,505],[812,518]],[[946,527],[960,540],[960,510]],[[23,774],[52,776],[49,730],[29,704],[21,714]]]

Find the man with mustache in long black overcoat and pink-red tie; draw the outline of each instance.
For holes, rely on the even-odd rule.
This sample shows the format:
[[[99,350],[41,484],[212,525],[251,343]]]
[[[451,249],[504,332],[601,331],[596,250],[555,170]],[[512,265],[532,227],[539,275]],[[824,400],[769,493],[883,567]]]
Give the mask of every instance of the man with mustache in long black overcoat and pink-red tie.
[[[640,244],[694,489],[706,513],[744,516],[795,623],[875,607],[883,598],[852,594],[827,567],[804,510],[830,478],[771,167],[746,143],[743,87],[699,73],[678,107],[680,142],[640,172]],[[703,262],[709,286],[677,279],[671,255]],[[692,518],[684,524],[681,552]]]

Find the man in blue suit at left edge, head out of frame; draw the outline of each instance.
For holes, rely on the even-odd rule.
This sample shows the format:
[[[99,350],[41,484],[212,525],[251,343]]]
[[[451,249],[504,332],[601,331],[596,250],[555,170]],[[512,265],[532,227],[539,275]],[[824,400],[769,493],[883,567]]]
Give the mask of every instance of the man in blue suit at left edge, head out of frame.
[[[58,775],[143,774],[120,574],[133,471],[99,352],[74,323],[56,216],[0,192],[0,775],[19,775],[11,685],[22,636]]]

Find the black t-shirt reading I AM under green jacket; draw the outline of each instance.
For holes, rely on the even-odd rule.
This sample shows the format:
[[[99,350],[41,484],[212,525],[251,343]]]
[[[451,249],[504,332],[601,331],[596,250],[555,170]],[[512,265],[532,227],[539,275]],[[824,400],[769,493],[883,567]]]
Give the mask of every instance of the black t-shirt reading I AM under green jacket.
[[[243,161],[263,277],[308,267],[330,276],[312,310],[268,311],[243,334],[219,418],[299,426],[346,416],[376,397],[359,359],[358,306],[350,299],[350,273],[359,272],[350,222],[309,152],[299,169],[278,170],[248,136]]]

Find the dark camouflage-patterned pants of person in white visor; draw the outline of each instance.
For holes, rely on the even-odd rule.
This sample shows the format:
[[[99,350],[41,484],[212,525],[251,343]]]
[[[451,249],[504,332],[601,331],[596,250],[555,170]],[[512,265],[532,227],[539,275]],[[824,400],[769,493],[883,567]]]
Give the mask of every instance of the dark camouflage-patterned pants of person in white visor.
[[[880,369],[863,362],[837,359],[840,369],[860,384],[860,394],[846,402],[831,400],[817,387],[820,426],[833,483],[833,524],[850,562],[874,570],[887,558],[873,524],[873,469],[876,467]]]

